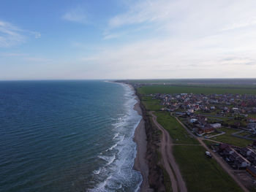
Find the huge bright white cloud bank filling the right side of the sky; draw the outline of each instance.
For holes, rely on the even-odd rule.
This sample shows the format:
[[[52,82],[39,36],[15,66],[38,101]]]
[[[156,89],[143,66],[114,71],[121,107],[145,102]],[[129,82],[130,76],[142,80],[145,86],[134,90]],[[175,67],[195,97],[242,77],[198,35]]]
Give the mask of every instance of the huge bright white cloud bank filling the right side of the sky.
[[[85,62],[119,78],[256,77],[255,7],[250,0],[135,1],[109,20],[105,38],[143,25],[149,30],[140,37],[154,35],[107,47]]]

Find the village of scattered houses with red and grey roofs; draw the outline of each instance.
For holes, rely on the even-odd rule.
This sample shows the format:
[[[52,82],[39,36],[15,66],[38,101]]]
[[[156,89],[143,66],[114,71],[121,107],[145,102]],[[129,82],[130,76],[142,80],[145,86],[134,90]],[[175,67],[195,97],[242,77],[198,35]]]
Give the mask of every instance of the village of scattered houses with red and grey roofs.
[[[161,110],[178,117],[196,137],[213,141],[212,150],[230,168],[246,169],[256,180],[256,96],[231,93],[155,93],[148,96],[159,99]],[[231,142],[218,140],[224,136]],[[248,145],[234,144],[232,139],[237,138]]]

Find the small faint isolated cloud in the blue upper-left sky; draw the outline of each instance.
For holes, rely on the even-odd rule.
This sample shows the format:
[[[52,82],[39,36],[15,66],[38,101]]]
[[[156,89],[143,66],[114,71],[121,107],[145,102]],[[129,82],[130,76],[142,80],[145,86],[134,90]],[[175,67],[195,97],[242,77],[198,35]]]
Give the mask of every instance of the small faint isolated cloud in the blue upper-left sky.
[[[88,23],[87,15],[81,7],[69,10],[62,18],[75,23]]]

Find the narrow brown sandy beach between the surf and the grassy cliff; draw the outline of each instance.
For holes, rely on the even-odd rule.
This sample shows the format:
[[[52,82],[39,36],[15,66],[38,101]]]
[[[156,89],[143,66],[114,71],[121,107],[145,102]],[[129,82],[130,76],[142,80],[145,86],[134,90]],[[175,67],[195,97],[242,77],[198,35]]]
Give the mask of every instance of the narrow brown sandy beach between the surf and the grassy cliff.
[[[129,85],[129,88],[134,90],[132,85]],[[143,116],[143,112],[140,108],[140,99],[136,96],[137,103],[133,107],[133,110],[137,111],[140,116]],[[148,183],[148,161],[146,160],[146,151],[147,151],[147,136],[146,136],[146,128],[145,128],[145,121],[141,118],[140,123],[138,124],[137,128],[135,129],[135,135],[133,141],[136,143],[136,158],[135,164],[133,169],[140,172],[143,177],[143,181],[140,184],[140,192],[151,191],[149,188]]]

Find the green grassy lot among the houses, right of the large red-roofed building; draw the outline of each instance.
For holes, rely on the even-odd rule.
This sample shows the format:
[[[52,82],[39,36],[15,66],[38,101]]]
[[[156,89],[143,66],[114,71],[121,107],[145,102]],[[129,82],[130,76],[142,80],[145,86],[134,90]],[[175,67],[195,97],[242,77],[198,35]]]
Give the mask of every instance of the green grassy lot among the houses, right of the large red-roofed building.
[[[222,134],[217,137],[212,137],[212,140],[216,140],[218,142],[225,142],[230,145],[236,145],[238,147],[246,147],[249,144],[252,144],[252,140],[241,139],[238,137],[233,137],[231,134],[239,131],[234,128],[219,128],[218,131],[225,131],[226,134]]]

